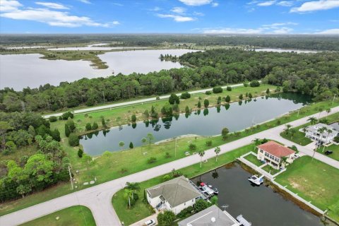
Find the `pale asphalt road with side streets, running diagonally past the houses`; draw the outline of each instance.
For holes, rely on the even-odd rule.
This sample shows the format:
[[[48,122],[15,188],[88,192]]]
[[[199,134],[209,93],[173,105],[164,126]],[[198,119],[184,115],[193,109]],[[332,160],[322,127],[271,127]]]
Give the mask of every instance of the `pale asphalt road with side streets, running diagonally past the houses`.
[[[336,112],[339,112],[339,107],[332,108],[330,114],[334,114]],[[322,117],[325,117],[326,114],[327,114],[326,112],[321,112]],[[318,117],[318,116],[319,113],[311,115],[309,117]],[[289,124],[291,124],[292,126],[300,126],[302,124],[307,123],[307,119],[309,117],[304,117],[302,119],[292,121]],[[247,145],[251,143],[251,141],[253,141],[254,138],[274,139],[276,141],[284,143],[285,145],[296,145],[298,150],[306,155],[314,154],[313,150],[308,149],[306,147],[302,147],[301,145],[292,143],[291,141],[287,141],[284,138],[280,137],[279,134],[281,131],[283,131],[283,129],[284,125],[281,125],[273,129],[268,129],[266,131],[262,131],[254,135],[241,138],[237,141],[226,143],[220,146],[221,148],[220,154],[227,153],[231,150]],[[204,158],[208,159],[210,157],[215,157],[214,148],[206,150],[206,155],[204,156]],[[339,162],[331,159],[330,157],[327,157],[326,155],[315,153],[314,158],[339,169]],[[76,191],[66,196],[54,198],[50,201],[46,201],[44,203],[40,203],[35,206],[31,206],[23,210],[18,210],[14,213],[9,213],[8,215],[2,216],[0,218],[0,225],[1,226],[20,225],[23,222],[28,222],[30,220],[34,220],[35,218],[40,218],[43,215],[53,213],[57,210],[67,208],[69,206],[83,205],[90,208],[97,225],[117,226],[120,225],[120,222],[119,218],[117,217],[117,214],[114,211],[114,208],[112,207],[111,199],[112,196],[117,191],[124,187],[124,184],[126,184],[126,182],[143,182],[145,180],[152,179],[153,177],[157,177],[162,174],[167,174],[171,172],[173,168],[181,169],[183,167],[193,165],[197,162],[200,162],[200,157],[198,155],[191,155],[189,157],[184,157],[180,160],[168,162],[167,164],[164,165],[153,167],[151,169],[146,169],[136,174],[131,174],[129,176],[114,179],[110,182],[99,184],[88,189]]]

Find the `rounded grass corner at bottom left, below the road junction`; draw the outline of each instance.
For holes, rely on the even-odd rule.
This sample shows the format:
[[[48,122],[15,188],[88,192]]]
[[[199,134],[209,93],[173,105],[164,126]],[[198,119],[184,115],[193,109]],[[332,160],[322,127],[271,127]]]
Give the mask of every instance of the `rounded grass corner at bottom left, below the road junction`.
[[[56,218],[59,217],[59,220]],[[35,225],[48,225],[48,226],[92,226],[95,225],[90,209],[85,206],[72,206],[59,210],[55,213],[45,215],[41,218],[25,222],[22,226],[35,226]]]

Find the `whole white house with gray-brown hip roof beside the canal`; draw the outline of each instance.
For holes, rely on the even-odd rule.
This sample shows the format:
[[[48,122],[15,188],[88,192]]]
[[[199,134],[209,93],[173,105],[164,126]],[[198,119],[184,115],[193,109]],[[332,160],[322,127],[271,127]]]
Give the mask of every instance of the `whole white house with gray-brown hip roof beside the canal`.
[[[147,201],[157,210],[171,210],[178,214],[184,208],[193,206],[201,193],[186,177],[177,177],[146,189]]]

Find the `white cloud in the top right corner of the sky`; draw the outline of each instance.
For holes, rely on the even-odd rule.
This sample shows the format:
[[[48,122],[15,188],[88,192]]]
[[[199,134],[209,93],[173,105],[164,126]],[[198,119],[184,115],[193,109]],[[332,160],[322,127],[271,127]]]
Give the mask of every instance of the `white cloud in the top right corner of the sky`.
[[[307,1],[302,6],[291,8],[291,13],[307,13],[339,7],[339,0]]]

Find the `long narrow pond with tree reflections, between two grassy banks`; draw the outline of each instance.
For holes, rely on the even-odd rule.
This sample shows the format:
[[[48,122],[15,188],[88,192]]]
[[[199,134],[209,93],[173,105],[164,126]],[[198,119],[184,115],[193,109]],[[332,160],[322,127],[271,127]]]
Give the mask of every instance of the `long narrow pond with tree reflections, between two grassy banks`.
[[[153,133],[155,141],[174,138],[186,134],[213,136],[221,133],[227,127],[231,132],[240,131],[253,124],[298,109],[310,102],[309,96],[294,93],[258,97],[242,104],[234,102],[230,105],[212,107],[190,115],[180,114],[177,117],[139,122],[134,125],[114,127],[109,131],[100,131],[83,136],[80,143],[85,153],[100,155],[105,150],[120,150],[119,142],[124,141],[124,148],[132,142],[134,147],[142,145],[141,139],[147,133]]]

